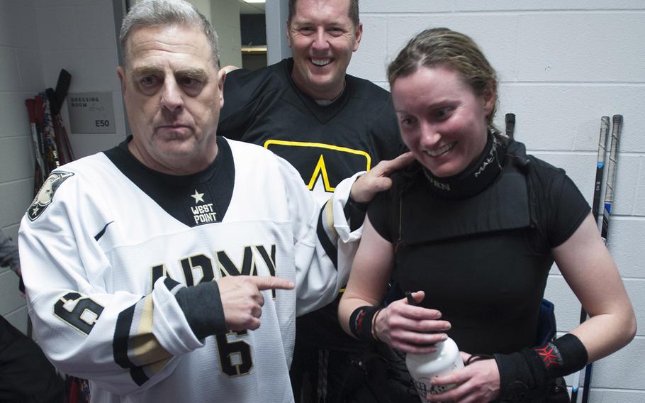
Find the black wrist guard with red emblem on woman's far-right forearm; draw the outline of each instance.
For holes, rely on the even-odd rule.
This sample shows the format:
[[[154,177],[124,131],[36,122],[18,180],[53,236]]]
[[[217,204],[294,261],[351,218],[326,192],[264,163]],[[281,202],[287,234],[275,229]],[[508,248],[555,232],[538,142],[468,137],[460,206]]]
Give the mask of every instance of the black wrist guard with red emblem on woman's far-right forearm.
[[[495,354],[500,370],[500,400],[522,402],[527,397],[546,397],[549,380],[584,368],[588,355],[573,334],[519,353]]]

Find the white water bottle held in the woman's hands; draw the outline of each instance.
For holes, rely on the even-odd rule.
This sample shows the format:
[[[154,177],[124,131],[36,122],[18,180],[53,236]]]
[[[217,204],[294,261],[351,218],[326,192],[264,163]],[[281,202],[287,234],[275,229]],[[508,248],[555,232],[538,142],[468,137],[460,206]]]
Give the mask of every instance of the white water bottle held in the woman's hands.
[[[434,353],[411,354],[405,358],[405,365],[415,383],[421,402],[427,403],[427,394],[438,394],[451,390],[456,385],[433,386],[430,380],[435,375],[444,375],[464,367],[459,355],[459,348],[451,338],[436,343],[438,350]]]

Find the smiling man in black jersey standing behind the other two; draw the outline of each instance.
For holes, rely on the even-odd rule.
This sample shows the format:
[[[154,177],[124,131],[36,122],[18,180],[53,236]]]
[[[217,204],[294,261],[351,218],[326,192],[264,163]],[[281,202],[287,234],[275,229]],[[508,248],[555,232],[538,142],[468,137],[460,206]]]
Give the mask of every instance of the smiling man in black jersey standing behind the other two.
[[[290,0],[293,57],[227,75],[218,135],[291,162],[320,204],[345,177],[399,155],[389,92],[347,74],[362,33],[358,0]],[[343,388],[355,386],[347,374],[363,347],[340,329],[337,302],[296,322],[296,402],[341,402]]]

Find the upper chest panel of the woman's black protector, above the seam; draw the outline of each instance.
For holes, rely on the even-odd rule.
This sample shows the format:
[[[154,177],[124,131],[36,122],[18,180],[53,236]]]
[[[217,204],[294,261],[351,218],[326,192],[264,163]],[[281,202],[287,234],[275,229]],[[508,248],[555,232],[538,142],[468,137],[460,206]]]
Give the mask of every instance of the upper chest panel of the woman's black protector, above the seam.
[[[528,160],[524,147],[512,143],[511,148],[521,155],[508,157],[507,147],[495,144],[490,136],[479,163],[467,168],[459,175],[461,178],[442,180],[423,170],[428,181],[418,178],[410,192],[403,192],[405,209],[401,209],[401,217],[402,222],[422,219],[432,223],[432,231],[423,226],[406,226],[405,242],[439,241],[530,226]],[[481,170],[484,163],[486,166]],[[475,177],[476,173],[481,175]]]

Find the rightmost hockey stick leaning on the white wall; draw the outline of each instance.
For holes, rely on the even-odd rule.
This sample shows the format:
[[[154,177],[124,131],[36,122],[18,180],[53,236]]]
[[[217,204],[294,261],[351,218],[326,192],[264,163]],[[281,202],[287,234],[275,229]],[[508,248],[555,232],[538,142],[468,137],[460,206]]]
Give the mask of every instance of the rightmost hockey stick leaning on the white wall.
[[[605,245],[607,245],[607,237],[609,236],[609,219],[612,214],[612,204],[614,204],[614,186],[618,167],[618,147],[620,131],[622,130],[622,115],[612,116],[612,123],[612,145],[609,150],[607,184],[605,185],[605,209],[602,210],[602,228],[600,230],[600,236],[602,237],[602,241],[605,242]],[[585,384],[583,386],[582,403],[587,403],[589,399],[592,370],[592,364],[587,365],[585,368]]]

